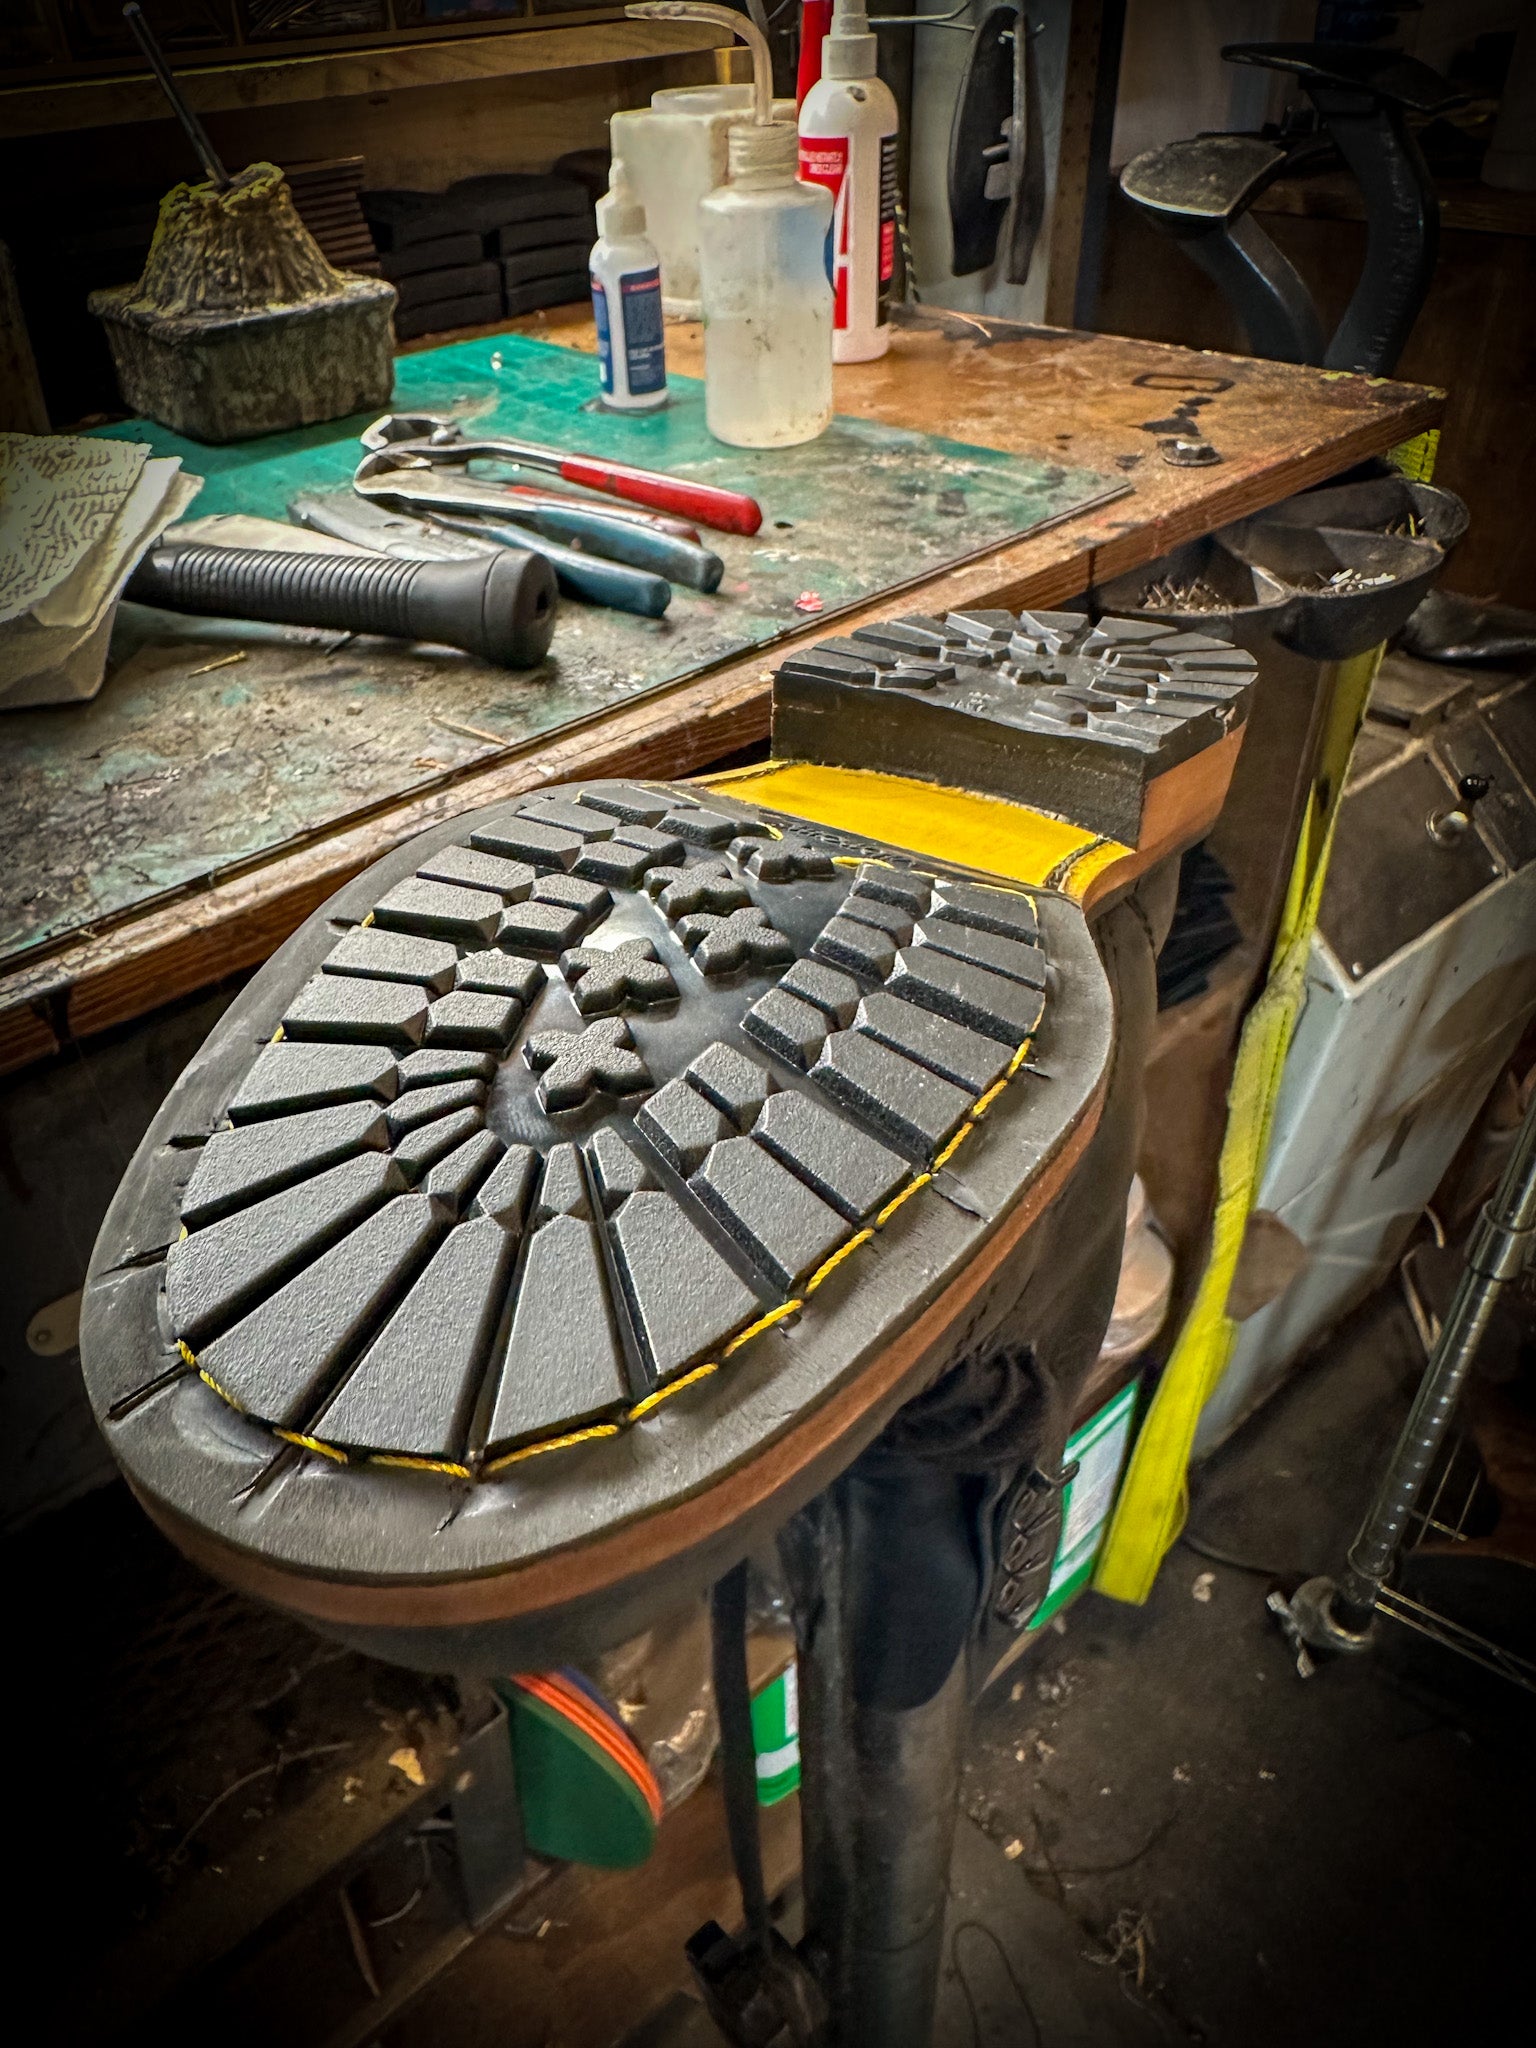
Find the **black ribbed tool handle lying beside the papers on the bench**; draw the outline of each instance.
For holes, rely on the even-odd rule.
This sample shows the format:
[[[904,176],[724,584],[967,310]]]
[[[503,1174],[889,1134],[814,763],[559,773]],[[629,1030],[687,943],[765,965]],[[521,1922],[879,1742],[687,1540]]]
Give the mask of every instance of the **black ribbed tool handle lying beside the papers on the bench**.
[[[537,668],[555,631],[555,571],[520,547],[475,561],[383,561],[266,547],[152,547],[125,596],[170,612],[338,627]]]

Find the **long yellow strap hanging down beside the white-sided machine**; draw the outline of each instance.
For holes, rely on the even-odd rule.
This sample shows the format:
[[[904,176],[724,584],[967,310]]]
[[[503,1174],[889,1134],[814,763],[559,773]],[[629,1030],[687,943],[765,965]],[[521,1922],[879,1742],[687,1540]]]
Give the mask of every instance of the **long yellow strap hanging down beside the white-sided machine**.
[[[1350,750],[1366,715],[1366,698],[1382,651],[1372,647],[1370,653],[1341,662],[1333,678],[1319,768],[1307,799],[1270,977],[1243,1022],[1237,1044],[1237,1065],[1227,1096],[1227,1133],[1217,1169],[1210,1257],[1130,1452],[1094,1575],[1094,1585],[1110,1599],[1141,1606],[1153,1589],[1157,1567],[1184,1528],[1190,1446],[1200,1411],[1227,1370],[1237,1335],[1237,1323],[1227,1315],[1227,1290],[1237,1272],[1237,1255],[1243,1249],[1243,1233],[1270,1149],[1274,1106],[1305,993],[1307,954],[1323,901]]]

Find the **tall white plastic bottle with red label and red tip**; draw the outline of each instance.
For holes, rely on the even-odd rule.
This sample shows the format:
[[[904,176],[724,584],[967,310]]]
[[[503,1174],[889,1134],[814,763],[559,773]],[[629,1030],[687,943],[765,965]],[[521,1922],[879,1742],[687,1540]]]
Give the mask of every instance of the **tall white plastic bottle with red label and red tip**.
[[[834,362],[891,346],[897,104],[874,72],[864,0],[836,0],[821,78],[801,102],[801,178],[831,193]]]

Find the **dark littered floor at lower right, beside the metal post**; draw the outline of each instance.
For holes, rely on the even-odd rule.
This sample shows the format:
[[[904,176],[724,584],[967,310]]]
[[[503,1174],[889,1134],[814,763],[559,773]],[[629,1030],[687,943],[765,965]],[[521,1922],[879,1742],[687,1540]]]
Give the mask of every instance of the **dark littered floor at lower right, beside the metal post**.
[[[1518,2009],[1530,1698],[1393,1624],[1303,1681],[1264,1608],[1341,1561],[1417,1362],[1391,1294],[1362,1311],[1202,1468],[1149,1604],[1081,1599],[983,1702],[956,1894],[1032,2015],[952,1931],[942,2048],[1491,2040]],[[1090,2025],[1083,1970],[1122,1993]]]

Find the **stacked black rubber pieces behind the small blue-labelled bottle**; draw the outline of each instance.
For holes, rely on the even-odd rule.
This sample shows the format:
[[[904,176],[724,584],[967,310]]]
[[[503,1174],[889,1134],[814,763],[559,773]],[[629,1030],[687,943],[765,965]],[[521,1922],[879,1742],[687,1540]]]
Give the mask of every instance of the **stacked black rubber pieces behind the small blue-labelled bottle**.
[[[399,293],[401,342],[586,299],[596,227],[575,178],[494,172],[446,193],[362,193],[362,213]]]

